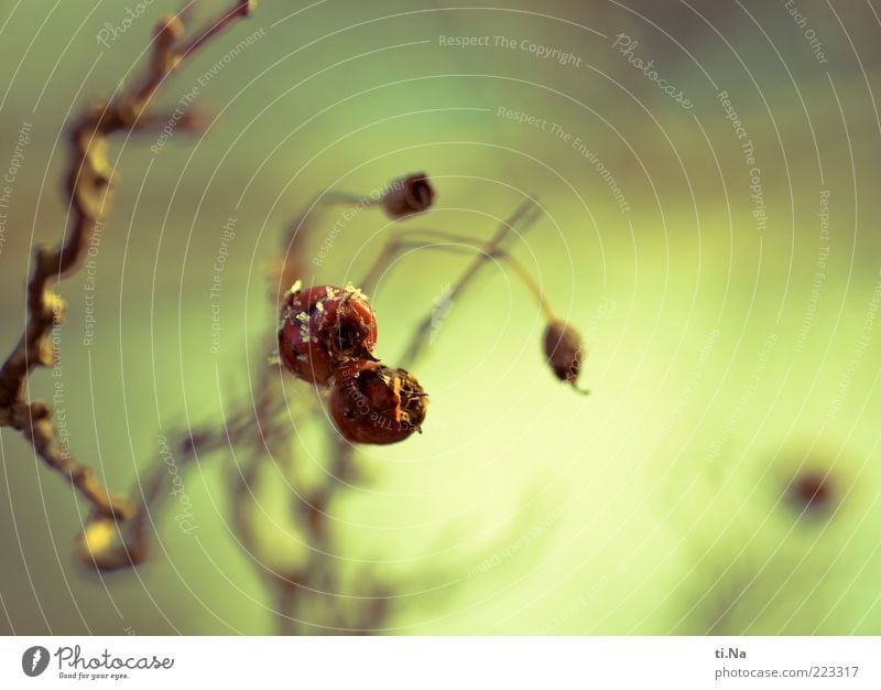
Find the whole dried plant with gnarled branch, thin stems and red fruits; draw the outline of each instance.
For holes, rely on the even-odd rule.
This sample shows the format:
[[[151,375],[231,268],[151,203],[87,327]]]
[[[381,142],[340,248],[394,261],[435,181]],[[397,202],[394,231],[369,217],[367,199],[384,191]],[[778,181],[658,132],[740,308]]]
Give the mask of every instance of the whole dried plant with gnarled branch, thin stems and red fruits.
[[[162,453],[174,457],[178,472],[210,455],[231,457],[228,489],[233,536],[275,597],[280,632],[371,633],[381,629],[387,622],[399,587],[377,573],[365,572],[359,578],[365,587],[362,592],[354,597],[339,596],[341,583],[334,557],[330,505],[352,484],[363,482],[352,462],[357,452],[352,442],[404,440],[418,430],[426,413],[427,393],[409,371],[387,367],[373,355],[369,328],[374,315],[367,295],[355,287],[303,288],[297,279],[306,274],[301,262],[309,255],[312,218],[319,207],[340,204],[376,207],[393,218],[410,218],[428,211],[435,201],[434,187],[425,173],[402,177],[389,186],[384,196],[376,200],[340,192],[325,193],[291,225],[271,271],[271,294],[278,302],[280,321],[268,327],[264,341],[268,356],[275,344],[284,352],[276,353],[278,356],[262,367],[250,396],[224,410],[221,422],[206,420],[163,439],[162,453],[140,473],[129,497],[112,494],[89,465],[77,462],[61,443],[52,420],[52,407],[44,401],[29,400],[26,395],[34,369],[53,366],[59,356],[53,351],[50,334],[62,322],[65,304],[52,291],[52,284],[80,268],[90,238],[108,215],[113,191],[107,159],[108,139],[117,132],[154,131],[165,126],[170,118],[152,114],[150,106],[166,77],[210,39],[251,14],[254,4],[253,1],[235,2],[189,39],[184,36],[181,15],[165,15],[155,29],[152,57],[141,82],[113,99],[93,106],[74,125],[66,187],[72,207],[70,227],[58,247],[36,250],[33,276],[28,283],[26,327],[0,369],[0,427],[20,431],[36,454],[64,475],[88,503],[90,514],[78,540],[78,557],[100,571],[130,569],[150,556],[153,517],[172,495],[172,478]],[[177,127],[197,131],[202,119],[198,111],[192,111]],[[535,298],[547,322],[543,341],[547,363],[557,378],[575,387],[583,358],[580,337],[556,319],[539,283],[505,248],[512,237],[540,215],[541,207],[535,200],[526,198],[487,240],[426,228],[396,230],[365,272],[359,288],[372,290],[398,254],[413,247],[474,255],[471,263],[452,283],[448,300],[467,291],[481,268],[498,261]],[[334,317],[329,321],[323,317],[322,325],[313,327],[312,310],[330,308]],[[352,314],[357,316],[355,321],[351,321]],[[301,325],[297,320],[305,322],[302,338],[296,331]],[[360,334],[356,339],[352,339],[352,332],[346,330],[352,324]],[[410,369],[417,365],[425,353],[432,324],[429,312],[395,363],[399,367]],[[292,378],[302,381],[294,382]],[[304,381],[308,381],[312,390]],[[295,387],[295,397],[287,395],[290,386]],[[371,411],[377,416],[362,419],[352,412],[352,407],[361,402],[358,396],[373,406]],[[317,485],[298,486],[291,496],[290,519],[303,531],[308,546],[307,554],[292,563],[286,554],[278,553],[261,541],[257,522],[258,484],[263,473],[272,468],[293,472],[296,459],[290,443],[291,429],[311,419],[324,421],[327,407],[336,428],[324,424],[328,448],[333,449],[326,474]],[[392,418],[405,425],[389,435],[381,424]],[[309,614],[315,602],[320,602],[320,621],[313,619]]]

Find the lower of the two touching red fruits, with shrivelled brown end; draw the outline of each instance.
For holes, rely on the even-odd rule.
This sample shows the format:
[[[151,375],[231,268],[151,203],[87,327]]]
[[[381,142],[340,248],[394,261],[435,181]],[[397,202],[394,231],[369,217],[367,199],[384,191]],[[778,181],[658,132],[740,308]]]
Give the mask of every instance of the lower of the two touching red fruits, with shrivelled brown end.
[[[330,416],[352,443],[385,445],[421,431],[428,396],[403,369],[373,366],[339,382],[330,393]]]

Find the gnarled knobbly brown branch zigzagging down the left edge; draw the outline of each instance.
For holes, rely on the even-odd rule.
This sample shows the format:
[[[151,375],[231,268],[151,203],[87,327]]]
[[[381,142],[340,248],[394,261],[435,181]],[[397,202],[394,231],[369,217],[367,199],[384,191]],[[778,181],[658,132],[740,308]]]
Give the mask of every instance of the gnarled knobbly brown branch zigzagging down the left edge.
[[[107,521],[130,520],[138,515],[138,509],[131,500],[111,494],[91,467],[77,462],[62,448],[52,422],[52,407],[44,401],[30,401],[26,395],[33,370],[53,366],[61,356],[54,352],[50,334],[62,323],[65,303],[53,292],[52,285],[79,269],[89,240],[107,217],[112,193],[112,168],[107,158],[109,137],[120,131],[149,130],[157,122],[167,121],[167,118],[145,112],[165,78],[210,37],[236,20],[248,17],[254,6],[255,0],[236,0],[229,10],[183,43],[184,25],[180,15],[166,14],[155,29],[149,69],[141,83],[105,104],[90,107],[74,122],[66,182],[70,202],[66,238],[57,247],[36,249],[26,290],[24,333],[0,368],[0,427],[20,431],[51,468],[66,476],[91,505],[93,517],[101,526]],[[197,117],[191,117],[178,126],[193,130],[197,121]],[[86,540],[93,536],[87,535]]]

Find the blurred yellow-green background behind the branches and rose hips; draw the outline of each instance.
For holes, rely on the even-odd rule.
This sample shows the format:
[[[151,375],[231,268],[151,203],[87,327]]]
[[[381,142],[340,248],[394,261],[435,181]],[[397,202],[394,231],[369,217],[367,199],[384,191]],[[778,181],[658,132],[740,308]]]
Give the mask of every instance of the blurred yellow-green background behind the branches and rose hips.
[[[437,206],[405,223],[478,238],[534,194],[545,213],[513,251],[584,333],[592,396],[553,379],[544,323],[499,267],[449,305],[418,369],[425,433],[360,451],[371,482],[330,508],[339,568],[371,564],[409,593],[382,632],[880,634],[878,3],[496,4],[261,0],[166,85],[173,106],[202,79],[213,119],[157,153],[153,134],[115,144],[94,323],[87,274],[59,288],[73,451],[122,490],[157,433],[220,423],[248,396],[273,349],[267,266],[316,193],[424,170]],[[4,349],[23,324],[31,247],[65,226],[59,132],[137,74],[155,21],[180,8],[145,3],[120,32],[120,2],[0,2],[1,170],[17,163],[0,240]],[[329,230],[339,215],[324,218]],[[304,280],[357,280],[400,225],[358,214],[320,266],[306,257]],[[414,251],[383,277],[372,297],[385,357],[467,260]],[[51,397],[55,380],[37,373],[32,395]],[[303,462],[319,464],[326,449],[309,438],[292,430]],[[275,629],[275,602],[230,531],[228,456],[184,477],[197,530],[159,514],[156,558],[98,576],[72,556],[86,508],[21,438],[0,443],[0,630]],[[805,476],[825,477],[814,500],[792,488]],[[262,489],[264,537],[296,559],[308,545],[271,517],[291,488]]]

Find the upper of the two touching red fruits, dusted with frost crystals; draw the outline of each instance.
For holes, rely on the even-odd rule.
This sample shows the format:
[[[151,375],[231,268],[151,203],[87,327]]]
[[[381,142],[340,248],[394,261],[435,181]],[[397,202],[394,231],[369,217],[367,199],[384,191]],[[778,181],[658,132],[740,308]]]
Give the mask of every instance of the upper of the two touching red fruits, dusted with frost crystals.
[[[374,362],[377,320],[367,297],[351,284],[291,288],[282,301],[279,359],[311,384],[330,386]]]

